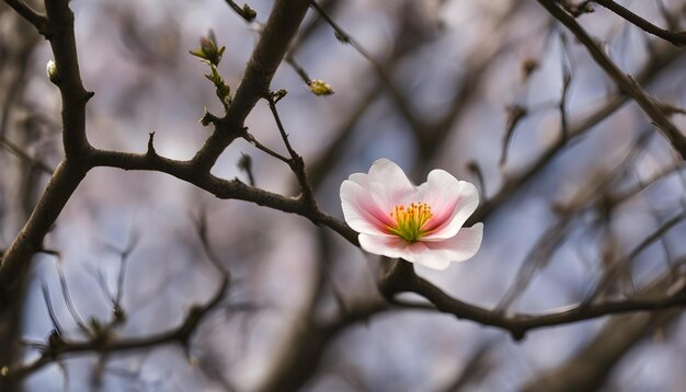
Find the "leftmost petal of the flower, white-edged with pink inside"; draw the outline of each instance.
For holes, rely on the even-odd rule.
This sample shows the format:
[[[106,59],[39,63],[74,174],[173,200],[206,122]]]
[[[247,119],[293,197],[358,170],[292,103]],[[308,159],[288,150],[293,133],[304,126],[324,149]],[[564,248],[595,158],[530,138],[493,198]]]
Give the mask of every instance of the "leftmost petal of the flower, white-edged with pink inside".
[[[392,224],[390,217],[379,208],[369,192],[359,183],[346,180],[341,184],[341,208],[345,222],[353,230],[361,233],[390,235],[386,232],[386,228]]]

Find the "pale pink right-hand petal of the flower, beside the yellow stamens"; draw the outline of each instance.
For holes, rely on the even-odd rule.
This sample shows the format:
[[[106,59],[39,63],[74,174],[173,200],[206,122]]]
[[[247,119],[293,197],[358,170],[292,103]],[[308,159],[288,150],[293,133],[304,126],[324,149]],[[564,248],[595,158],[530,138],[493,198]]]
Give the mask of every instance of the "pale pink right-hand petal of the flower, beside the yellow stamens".
[[[423,228],[432,231],[424,238],[426,241],[451,238],[479,206],[477,187],[466,181],[458,181],[444,170],[428,173],[426,183],[420,186],[420,193],[434,215]]]

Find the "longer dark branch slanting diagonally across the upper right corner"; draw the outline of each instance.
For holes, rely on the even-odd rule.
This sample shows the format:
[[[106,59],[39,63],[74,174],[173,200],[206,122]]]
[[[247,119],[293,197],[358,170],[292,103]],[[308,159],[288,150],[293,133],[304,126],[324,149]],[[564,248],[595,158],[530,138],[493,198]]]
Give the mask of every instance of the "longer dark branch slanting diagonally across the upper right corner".
[[[624,73],[605,54],[601,45],[554,0],[538,0],[538,2],[574,34],[576,39],[586,47],[595,62],[613,79],[619,90],[630,95],[641,106],[643,112],[655,123],[658,129],[670,140],[672,147],[686,160],[686,137],[672,124],[660,106],[648,96],[641,85],[630,76]]]

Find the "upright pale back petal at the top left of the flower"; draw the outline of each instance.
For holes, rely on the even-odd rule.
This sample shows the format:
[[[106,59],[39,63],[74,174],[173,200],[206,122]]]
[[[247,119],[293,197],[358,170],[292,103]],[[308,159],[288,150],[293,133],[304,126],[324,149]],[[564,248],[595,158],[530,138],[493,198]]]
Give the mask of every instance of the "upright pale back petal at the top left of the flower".
[[[408,197],[416,193],[402,169],[388,159],[374,161],[367,175],[367,185],[377,205],[386,212],[404,205]]]

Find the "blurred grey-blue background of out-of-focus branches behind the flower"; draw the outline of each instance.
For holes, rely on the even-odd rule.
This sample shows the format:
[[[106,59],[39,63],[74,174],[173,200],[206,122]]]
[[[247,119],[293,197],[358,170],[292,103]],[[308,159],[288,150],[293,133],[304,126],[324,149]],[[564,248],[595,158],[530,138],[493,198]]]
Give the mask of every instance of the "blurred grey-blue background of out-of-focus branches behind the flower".
[[[619,2],[684,28],[682,0]],[[416,184],[436,168],[476,183],[485,224],[477,256],[446,272],[416,270],[460,300],[503,312],[661,293],[683,275],[678,155],[537,2],[320,3],[369,58],[310,10],[291,58],[335,93],[316,96],[286,62],[271,88],[288,91],[279,114],[322,210],[342,219],[341,182],[379,158]],[[236,90],[272,1],[249,5],[256,22],[221,0],[71,1],[82,79],[95,92],[92,143],[144,152],[155,131],[159,154],[192,158],[210,132],[198,124],[204,107],[222,108],[206,65],[188,50],[213,30],[226,46],[219,71]],[[683,129],[686,53],[594,8],[578,21]],[[49,59],[47,43],[1,3],[0,249],[62,157]],[[285,153],[265,102],[247,126]],[[242,140],[213,173],[248,182],[243,154],[256,186],[297,194],[286,165]],[[79,319],[106,324],[115,297],[126,314],[117,336],[181,323],[220,283],[203,227],[205,247],[232,280],[187,348],[72,355],[28,377],[26,391],[679,391],[686,383],[679,309],[541,328],[515,342],[470,321],[380,305],[377,257],[299,216],[114,169],[89,173],[46,238],[50,252],[35,257],[25,360],[39,355],[54,320],[75,341],[83,338]]]

